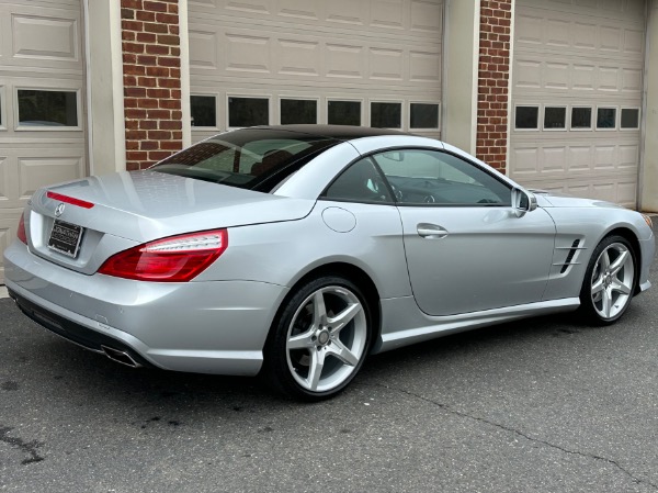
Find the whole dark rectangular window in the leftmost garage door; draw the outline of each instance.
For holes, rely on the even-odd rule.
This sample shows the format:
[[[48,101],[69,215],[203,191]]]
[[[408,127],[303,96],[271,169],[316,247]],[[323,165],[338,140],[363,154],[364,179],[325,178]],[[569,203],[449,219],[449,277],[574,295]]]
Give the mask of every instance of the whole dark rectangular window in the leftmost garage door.
[[[19,126],[56,130],[78,127],[78,92],[19,89]]]

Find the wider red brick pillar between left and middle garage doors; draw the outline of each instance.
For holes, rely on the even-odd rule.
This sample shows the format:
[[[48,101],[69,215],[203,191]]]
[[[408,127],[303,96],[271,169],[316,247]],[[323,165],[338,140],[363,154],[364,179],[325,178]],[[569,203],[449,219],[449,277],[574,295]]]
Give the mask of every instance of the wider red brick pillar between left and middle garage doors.
[[[121,0],[126,168],[183,145],[178,0]]]

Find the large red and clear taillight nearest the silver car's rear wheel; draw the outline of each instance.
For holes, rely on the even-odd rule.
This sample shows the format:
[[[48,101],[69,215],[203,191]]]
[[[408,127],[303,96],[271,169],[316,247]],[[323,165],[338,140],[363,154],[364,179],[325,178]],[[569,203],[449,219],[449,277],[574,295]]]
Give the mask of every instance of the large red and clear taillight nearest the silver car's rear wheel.
[[[227,246],[226,229],[171,236],[120,251],[99,272],[138,281],[186,282],[213,264]]]

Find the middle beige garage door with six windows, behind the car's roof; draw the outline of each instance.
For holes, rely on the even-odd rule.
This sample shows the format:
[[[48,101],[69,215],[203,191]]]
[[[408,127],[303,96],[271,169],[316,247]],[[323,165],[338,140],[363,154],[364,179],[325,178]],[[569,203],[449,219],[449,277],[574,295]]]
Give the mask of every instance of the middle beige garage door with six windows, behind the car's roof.
[[[439,136],[443,0],[190,0],[193,139],[331,123]]]

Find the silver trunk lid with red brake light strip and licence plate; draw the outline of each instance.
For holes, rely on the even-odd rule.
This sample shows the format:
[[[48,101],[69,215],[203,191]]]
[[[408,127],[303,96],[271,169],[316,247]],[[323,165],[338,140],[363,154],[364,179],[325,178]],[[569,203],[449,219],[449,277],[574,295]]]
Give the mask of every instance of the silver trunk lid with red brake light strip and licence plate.
[[[295,221],[313,205],[314,201],[155,171],[122,171],[38,190],[25,221],[33,253],[91,274],[111,255],[141,243]]]

